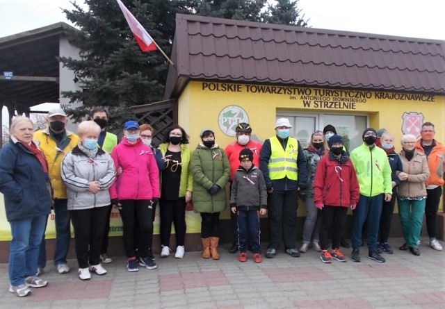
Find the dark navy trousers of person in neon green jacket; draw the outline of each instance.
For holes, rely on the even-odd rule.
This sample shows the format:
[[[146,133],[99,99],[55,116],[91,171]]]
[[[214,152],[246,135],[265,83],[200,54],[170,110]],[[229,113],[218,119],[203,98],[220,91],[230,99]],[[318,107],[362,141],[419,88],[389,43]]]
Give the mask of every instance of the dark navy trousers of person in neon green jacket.
[[[378,226],[382,214],[383,196],[384,194],[365,197],[360,194],[357,208],[353,212],[353,227],[350,235],[353,249],[358,250],[362,244],[362,228],[366,221],[368,249],[370,252],[377,250]]]

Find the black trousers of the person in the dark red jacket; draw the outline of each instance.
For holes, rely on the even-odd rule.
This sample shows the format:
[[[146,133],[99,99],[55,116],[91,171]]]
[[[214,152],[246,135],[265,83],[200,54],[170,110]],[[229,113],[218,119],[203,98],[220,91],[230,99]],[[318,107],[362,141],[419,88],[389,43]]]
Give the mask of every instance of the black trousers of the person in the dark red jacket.
[[[347,207],[341,206],[327,206],[321,210],[321,225],[320,225],[320,247],[327,250],[329,246],[329,232],[332,231],[332,249],[340,248],[341,235],[343,233],[343,226],[345,225],[346,215],[348,214]],[[332,230],[331,230],[332,225]]]

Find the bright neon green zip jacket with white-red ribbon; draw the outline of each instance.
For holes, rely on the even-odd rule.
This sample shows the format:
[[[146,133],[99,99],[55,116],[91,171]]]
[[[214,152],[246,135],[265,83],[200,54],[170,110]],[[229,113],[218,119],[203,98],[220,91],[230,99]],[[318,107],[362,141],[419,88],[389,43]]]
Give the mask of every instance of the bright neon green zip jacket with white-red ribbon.
[[[372,149],[362,144],[350,152],[355,174],[360,186],[360,194],[375,197],[378,194],[392,194],[391,166],[385,150],[374,146]]]

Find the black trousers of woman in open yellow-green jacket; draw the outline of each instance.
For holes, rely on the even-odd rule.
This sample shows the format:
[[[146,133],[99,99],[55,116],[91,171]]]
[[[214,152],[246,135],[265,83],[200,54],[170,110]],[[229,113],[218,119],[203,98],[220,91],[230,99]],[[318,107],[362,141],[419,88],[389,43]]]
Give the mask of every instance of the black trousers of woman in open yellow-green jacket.
[[[186,237],[186,198],[175,200],[161,199],[159,204],[161,217],[160,232],[161,244],[170,247],[170,235],[172,234],[172,223],[175,226],[176,245],[184,246]]]

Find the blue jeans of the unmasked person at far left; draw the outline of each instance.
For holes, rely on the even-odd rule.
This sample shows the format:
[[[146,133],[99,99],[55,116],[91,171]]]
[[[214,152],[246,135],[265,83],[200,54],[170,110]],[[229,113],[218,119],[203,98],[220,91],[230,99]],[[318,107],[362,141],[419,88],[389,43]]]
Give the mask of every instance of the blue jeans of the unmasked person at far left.
[[[9,281],[11,285],[22,285],[25,278],[37,273],[39,245],[44,233],[46,215],[31,219],[9,222],[11,240],[9,250]]]

